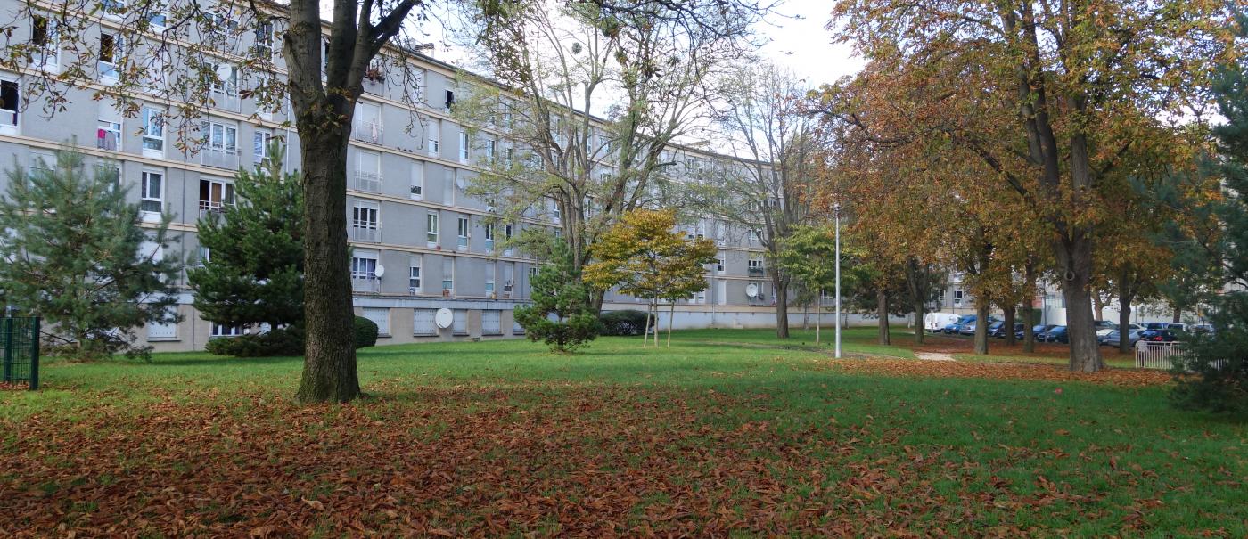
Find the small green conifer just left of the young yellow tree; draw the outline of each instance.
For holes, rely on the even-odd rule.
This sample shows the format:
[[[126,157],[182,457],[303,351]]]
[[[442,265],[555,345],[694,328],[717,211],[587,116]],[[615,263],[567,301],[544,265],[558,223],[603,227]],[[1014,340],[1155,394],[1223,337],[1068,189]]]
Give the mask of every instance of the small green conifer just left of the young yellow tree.
[[[517,307],[515,321],[530,341],[544,341],[555,352],[572,353],[598,337],[598,317],[568,242],[554,241],[548,261],[530,283],[533,304]]]

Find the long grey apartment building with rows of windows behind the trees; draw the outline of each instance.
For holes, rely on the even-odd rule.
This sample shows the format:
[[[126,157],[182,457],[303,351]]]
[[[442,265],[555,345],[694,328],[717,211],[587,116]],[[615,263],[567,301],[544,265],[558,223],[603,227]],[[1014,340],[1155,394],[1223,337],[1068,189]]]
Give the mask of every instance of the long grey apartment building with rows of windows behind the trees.
[[[106,7],[117,1],[106,1]],[[25,6],[17,0],[0,5],[10,15]],[[154,24],[163,22],[161,14],[151,16]],[[65,110],[44,114],[39,97],[26,95],[31,71],[0,70],[0,155],[21,166],[47,167],[55,166],[57,147],[74,146],[96,166],[119,171],[145,222],[156,223],[162,213],[172,216],[176,243],[157,256],[178,257],[192,266],[208,260],[211,252],[196,240],[196,221],[236,202],[235,171],[272,157],[266,152],[273,137],[287,142],[286,167],[297,167],[301,152],[297,134],[285,127],[292,120],[290,107],[258,107],[240,71],[245,62],[240,51],[245,50],[272,55],[281,71],[276,34],[238,31],[232,16],[213,15],[216,31],[225,32],[212,59],[218,62],[218,81],[211,89],[212,107],[196,125],[167,125],[167,111],[178,104],[157,95],[137,95],[134,116],[119,114],[114,102],[94,99],[100,87],[116,82],[115,56],[124,42],[124,21],[110,17],[105,9],[91,27],[99,34],[89,36],[101,49],[92,81],[69,90]],[[30,70],[55,74],[70,61],[69,51],[56,44],[49,19],[34,17],[27,26],[14,29],[11,39],[42,47]],[[509,157],[520,148],[508,140],[505,121],[500,127],[474,130],[474,140],[469,136],[473,130],[457,125],[449,110],[463,86],[456,66],[421,55],[411,62],[416,85],[384,77],[366,80],[352,126],[347,220],[356,311],[377,323],[381,343],[520,336],[523,329],[512,312],[529,299],[529,281],[540,261],[504,248],[505,240],[530,227],[554,233],[560,226],[558,208],[533,208],[514,223],[493,222],[492,208],[468,196],[466,188],[479,171],[475,163],[483,153],[494,157],[505,152]],[[176,129],[195,132],[180,137]],[[187,138],[202,140],[202,145],[182,147],[178,141]],[[729,156],[690,147],[673,147],[669,157],[685,163],[689,172],[739,166]],[[7,178],[0,178],[4,182]],[[684,231],[689,237],[715,238],[721,251],[706,270],[708,288],[679,302],[676,326],[773,326],[774,293],[759,232],[711,217],[689,223]],[[255,329],[200,318],[185,273],[178,279],[183,291],[177,308],[183,322],[152,324],[140,332],[156,351],[202,349],[211,338]],[[608,293],[604,308],[643,306],[638,298]],[[442,308],[453,312],[448,328],[434,323],[434,313]]]

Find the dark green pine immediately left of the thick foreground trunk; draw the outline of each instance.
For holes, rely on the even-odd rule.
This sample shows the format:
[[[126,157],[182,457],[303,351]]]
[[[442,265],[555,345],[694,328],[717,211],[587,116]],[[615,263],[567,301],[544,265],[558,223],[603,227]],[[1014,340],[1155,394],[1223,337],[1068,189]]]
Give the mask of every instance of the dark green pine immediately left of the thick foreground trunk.
[[[216,339],[210,351],[230,356],[303,353],[303,190],[278,156],[235,175],[236,205],[200,218],[205,260],[187,272],[195,308],[228,327],[270,326],[265,333]]]

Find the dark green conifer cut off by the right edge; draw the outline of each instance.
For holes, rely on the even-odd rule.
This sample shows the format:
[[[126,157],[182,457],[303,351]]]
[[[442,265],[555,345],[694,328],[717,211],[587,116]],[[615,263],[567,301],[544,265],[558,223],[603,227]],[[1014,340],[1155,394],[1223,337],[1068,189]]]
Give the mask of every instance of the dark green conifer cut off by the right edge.
[[[1248,16],[1239,16],[1239,36],[1248,36]],[[1214,294],[1213,332],[1192,337],[1192,354],[1181,369],[1176,403],[1184,408],[1227,412],[1248,418],[1248,66],[1241,59],[1219,70],[1213,86],[1227,124],[1214,129],[1218,157],[1209,168],[1223,181],[1223,197],[1212,203],[1221,236],[1212,245],[1227,289]]]

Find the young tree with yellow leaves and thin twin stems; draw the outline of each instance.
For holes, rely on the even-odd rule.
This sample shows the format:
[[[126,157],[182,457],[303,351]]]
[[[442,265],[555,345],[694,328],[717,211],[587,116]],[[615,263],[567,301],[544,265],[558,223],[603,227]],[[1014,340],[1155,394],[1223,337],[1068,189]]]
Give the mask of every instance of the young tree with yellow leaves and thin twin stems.
[[[659,299],[671,304],[668,318],[668,346],[676,301],[706,289],[705,265],[715,260],[719,248],[709,238],[688,240],[675,231],[673,211],[633,210],[603,232],[593,246],[594,261],[585,266],[584,281],[598,289],[618,288],[622,293],[648,299],[645,339],[654,317],[654,344],[659,346]]]

